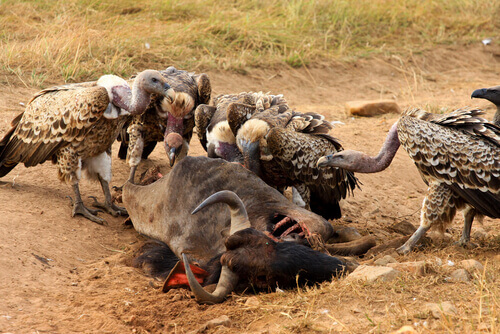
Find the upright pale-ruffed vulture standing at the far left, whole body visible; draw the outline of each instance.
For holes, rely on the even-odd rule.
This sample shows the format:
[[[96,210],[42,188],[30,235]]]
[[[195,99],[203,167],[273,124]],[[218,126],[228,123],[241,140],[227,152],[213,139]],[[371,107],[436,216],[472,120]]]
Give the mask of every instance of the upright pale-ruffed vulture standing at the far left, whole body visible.
[[[82,170],[101,183],[105,202],[95,201],[94,206],[115,216],[126,214],[111,202],[111,145],[128,115],[144,112],[152,94],[175,98],[167,81],[154,70],[137,75],[132,87],[120,77],[104,75],[95,82],[38,92],[0,141],[0,177],[18,163],[32,167],[51,160],[59,179],[73,187],[73,217],[105,222],[97,217],[99,210],[83,205],[78,186]]]

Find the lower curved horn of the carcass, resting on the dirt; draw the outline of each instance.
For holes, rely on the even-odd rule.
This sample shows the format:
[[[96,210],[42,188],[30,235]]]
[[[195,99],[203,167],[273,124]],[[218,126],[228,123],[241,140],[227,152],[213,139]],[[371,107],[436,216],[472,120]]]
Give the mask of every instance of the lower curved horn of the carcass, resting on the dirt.
[[[209,293],[203,289],[194,277],[193,272],[189,267],[189,260],[184,253],[182,254],[182,260],[184,261],[184,268],[186,269],[189,287],[191,288],[191,291],[193,291],[198,303],[218,304],[222,302],[224,298],[231,293],[231,291],[234,290],[236,284],[238,283],[238,275],[233,273],[227,266],[222,266],[217,287],[213,293]]]

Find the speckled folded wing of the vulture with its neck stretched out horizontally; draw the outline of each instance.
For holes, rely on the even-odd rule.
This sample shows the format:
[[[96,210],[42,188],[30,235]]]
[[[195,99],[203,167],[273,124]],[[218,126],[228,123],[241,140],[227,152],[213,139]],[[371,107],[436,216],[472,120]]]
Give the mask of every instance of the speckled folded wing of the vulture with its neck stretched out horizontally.
[[[500,218],[500,128],[479,115],[459,109],[424,121],[410,111],[398,122],[398,136],[424,178],[448,184],[482,214]]]

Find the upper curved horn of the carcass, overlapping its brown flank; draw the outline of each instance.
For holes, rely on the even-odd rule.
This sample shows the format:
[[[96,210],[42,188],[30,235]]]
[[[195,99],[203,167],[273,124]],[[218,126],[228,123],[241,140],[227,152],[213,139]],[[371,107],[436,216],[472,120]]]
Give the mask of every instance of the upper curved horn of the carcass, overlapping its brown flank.
[[[247,210],[241,199],[230,190],[222,190],[216,192],[212,196],[205,199],[196,209],[191,212],[192,215],[203,209],[204,207],[214,203],[226,203],[231,211],[231,229],[230,235],[250,227]]]

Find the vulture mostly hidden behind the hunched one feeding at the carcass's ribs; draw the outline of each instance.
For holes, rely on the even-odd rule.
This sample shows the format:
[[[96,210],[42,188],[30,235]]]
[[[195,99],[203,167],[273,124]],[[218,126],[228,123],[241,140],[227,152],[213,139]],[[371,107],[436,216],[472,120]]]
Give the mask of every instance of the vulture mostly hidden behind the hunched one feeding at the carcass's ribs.
[[[283,95],[262,92],[218,95],[214,98],[213,106],[199,105],[195,112],[196,132],[208,157],[242,162],[227,115],[236,114],[232,110],[237,110],[246,120],[256,112],[279,105],[286,105]],[[244,120],[238,121],[242,123]]]

